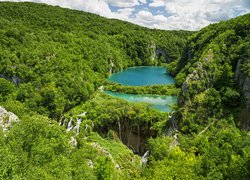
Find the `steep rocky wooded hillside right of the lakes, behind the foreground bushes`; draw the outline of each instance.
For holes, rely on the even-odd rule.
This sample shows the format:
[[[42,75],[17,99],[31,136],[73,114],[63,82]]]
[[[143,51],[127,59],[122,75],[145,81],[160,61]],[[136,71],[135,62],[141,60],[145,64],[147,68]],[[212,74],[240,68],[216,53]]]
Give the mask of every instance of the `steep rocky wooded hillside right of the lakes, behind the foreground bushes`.
[[[210,25],[187,43],[173,73],[182,90],[179,115],[184,131],[231,116],[250,127],[250,14]]]

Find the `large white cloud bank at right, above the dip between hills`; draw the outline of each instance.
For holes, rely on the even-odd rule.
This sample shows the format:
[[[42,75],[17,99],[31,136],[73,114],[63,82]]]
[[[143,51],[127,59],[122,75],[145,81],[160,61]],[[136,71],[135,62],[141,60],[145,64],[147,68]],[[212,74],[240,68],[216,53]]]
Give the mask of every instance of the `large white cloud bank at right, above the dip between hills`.
[[[250,12],[249,0],[153,0],[153,8],[165,8],[165,16],[150,9],[138,12],[135,23],[160,29],[198,30],[211,23]],[[161,13],[162,14],[162,13]]]

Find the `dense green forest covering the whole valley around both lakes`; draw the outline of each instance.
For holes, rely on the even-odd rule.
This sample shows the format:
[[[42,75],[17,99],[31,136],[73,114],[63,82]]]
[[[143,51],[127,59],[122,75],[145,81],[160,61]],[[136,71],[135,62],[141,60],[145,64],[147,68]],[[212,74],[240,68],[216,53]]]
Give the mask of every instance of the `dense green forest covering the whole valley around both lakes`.
[[[163,31],[0,2],[0,179],[249,179],[250,15]],[[164,65],[175,85],[107,82]],[[172,113],[100,91],[178,95]]]

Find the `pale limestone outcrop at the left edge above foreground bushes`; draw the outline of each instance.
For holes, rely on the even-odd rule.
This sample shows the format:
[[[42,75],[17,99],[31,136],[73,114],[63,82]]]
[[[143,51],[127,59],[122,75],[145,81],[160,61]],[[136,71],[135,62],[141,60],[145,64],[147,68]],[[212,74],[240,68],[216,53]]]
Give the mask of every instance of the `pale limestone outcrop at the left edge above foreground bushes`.
[[[8,112],[5,108],[0,106],[0,128],[3,129],[3,132],[8,131],[11,125],[18,121],[19,119],[14,113]]]

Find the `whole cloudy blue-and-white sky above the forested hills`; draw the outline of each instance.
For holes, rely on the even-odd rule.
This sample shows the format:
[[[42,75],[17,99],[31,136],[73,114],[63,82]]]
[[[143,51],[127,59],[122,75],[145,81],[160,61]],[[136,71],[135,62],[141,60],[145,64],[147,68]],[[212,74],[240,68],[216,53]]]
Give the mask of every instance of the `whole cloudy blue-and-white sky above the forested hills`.
[[[5,0],[0,0],[5,1]],[[8,0],[12,1],[12,0]],[[23,0],[13,0],[23,1]],[[199,30],[250,12],[250,0],[26,0],[83,10],[157,29]]]

